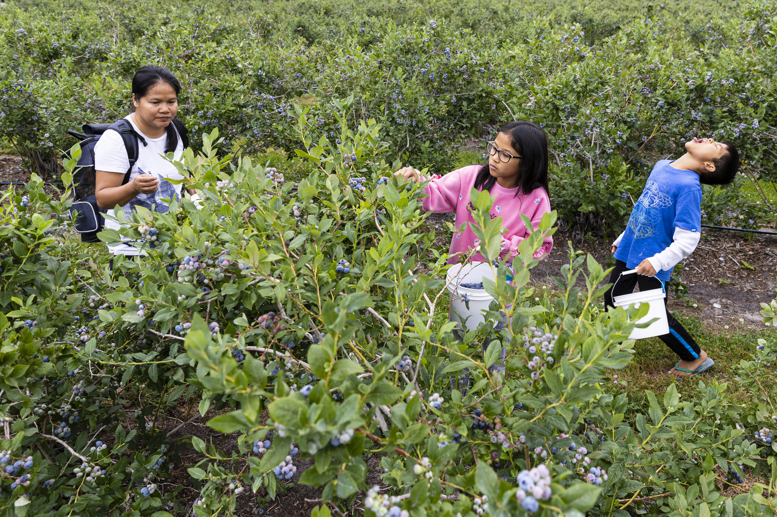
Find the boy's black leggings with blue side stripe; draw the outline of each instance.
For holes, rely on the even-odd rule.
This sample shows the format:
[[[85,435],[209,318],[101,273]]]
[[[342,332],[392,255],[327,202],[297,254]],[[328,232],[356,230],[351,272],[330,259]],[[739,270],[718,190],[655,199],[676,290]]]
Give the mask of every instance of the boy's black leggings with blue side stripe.
[[[610,275],[610,283],[615,284],[615,280],[618,283],[615,284],[614,289],[608,290],[605,293],[605,306],[615,307],[612,303],[612,297],[619,297],[622,294],[629,294],[634,290],[634,286],[639,282],[639,290],[646,291],[651,289],[659,289],[661,287],[661,281],[655,276],[644,276],[639,274],[632,274],[626,276],[620,276],[622,272],[628,271],[629,267],[622,260],[615,260],[615,269],[612,269]],[[620,279],[618,277],[620,276]],[[669,298],[664,298],[664,305],[667,304]],[[661,341],[667,344],[672,352],[680,356],[680,359],[684,361],[694,361],[699,359],[699,353],[702,349],[696,344],[694,338],[688,334],[679,321],[672,317],[671,313],[667,309],[667,321],[669,321],[669,334],[658,336]]]

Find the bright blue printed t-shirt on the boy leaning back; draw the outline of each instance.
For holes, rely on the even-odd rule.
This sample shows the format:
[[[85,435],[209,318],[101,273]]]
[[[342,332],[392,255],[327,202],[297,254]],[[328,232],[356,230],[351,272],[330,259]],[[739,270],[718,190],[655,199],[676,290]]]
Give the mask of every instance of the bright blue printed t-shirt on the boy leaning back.
[[[629,269],[668,248],[674,227],[702,231],[699,174],[681,171],[672,167],[671,162],[661,160],[653,167],[615,251],[615,259],[625,262]],[[671,273],[661,270],[656,277],[666,282]]]

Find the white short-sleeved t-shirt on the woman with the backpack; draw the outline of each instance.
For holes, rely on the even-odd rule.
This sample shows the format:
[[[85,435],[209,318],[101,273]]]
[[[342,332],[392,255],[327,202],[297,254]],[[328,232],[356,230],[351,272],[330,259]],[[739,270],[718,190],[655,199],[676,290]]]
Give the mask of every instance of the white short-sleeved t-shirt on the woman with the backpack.
[[[129,213],[131,209],[136,205],[145,206],[148,210],[155,210],[159,213],[164,213],[168,210],[169,206],[165,203],[164,199],[178,199],[181,197],[181,184],[173,185],[165,180],[170,179],[183,179],[182,175],[178,174],[178,170],[165,158],[165,147],[167,145],[167,134],[163,134],[159,138],[149,138],[141,132],[137,125],[135,125],[133,119],[134,115],[124,117],[129,120],[134,127],[134,130],[138,131],[145,138],[148,145],[143,145],[143,142],[138,141],[138,161],[132,167],[130,173],[130,181],[135,179],[139,174],[146,173],[159,178],[159,189],[155,193],[151,194],[138,194],[129,203],[122,206],[124,213]],[[172,123],[172,122],[171,122]],[[183,154],[183,141],[178,137],[178,147],[174,151],[173,155],[176,160],[181,158]],[[130,158],[127,157],[127,149],[124,147],[124,141],[121,139],[121,135],[117,131],[106,131],[102,137],[100,137],[97,144],[95,144],[95,170],[104,172],[115,172],[124,177],[127,174],[127,169],[130,168]],[[113,210],[108,210],[108,213],[113,216]],[[105,227],[111,230],[119,230],[121,225],[117,220],[106,218]],[[113,255],[140,255],[138,248],[133,248],[131,245],[122,244],[118,246],[108,246],[108,251]]]

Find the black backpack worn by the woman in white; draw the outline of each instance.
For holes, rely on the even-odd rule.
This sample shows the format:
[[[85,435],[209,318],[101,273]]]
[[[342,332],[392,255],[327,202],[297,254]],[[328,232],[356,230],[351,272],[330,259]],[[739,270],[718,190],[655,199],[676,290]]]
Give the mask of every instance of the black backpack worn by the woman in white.
[[[189,135],[186,126],[178,119],[172,119],[172,124],[178,130],[179,137],[183,142],[183,148],[189,147]],[[124,175],[122,185],[130,181],[130,175],[135,162],[138,161],[140,144],[148,145],[143,135],[134,130],[132,124],[126,119],[121,119],[112,124],[84,124],[83,133],[74,130],[68,130],[68,134],[78,138],[81,146],[81,158],[78,158],[78,164],[73,169],[73,185],[75,186],[75,203],[70,208],[71,218],[73,219],[75,231],[81,234],[82,242],[99,242],[97,234],[103,230],[105,219],[102,210],[97,206],[97,199],[94,196],[95,181],[95,144],[106,131],[116,131],[121,135],[124,141],[124,147],[127,149],[127,158],[130,160],[130,168]],[[62,158],[69,160],[70,151],[65,151]]]

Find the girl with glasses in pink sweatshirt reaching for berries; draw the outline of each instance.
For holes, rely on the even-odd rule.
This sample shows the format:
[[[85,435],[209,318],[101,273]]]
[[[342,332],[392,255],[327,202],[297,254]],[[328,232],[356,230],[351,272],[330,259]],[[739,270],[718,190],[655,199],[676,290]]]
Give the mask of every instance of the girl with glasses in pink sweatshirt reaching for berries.
[[[491,208],[491,218],[503,217],[502,252],[512,262],[518,254],[518,245],[529,234],[521,220],[521,213],[528,216],[536,229],[542,214],[550,211],[548,196],[548,139],[545,131],[526,120],[508,122],[500,127],[494,141],[488,142],[490,154],[487,165],[469,165],[432,179],[424,191],[423,210],[434,213],[455,212],[456,227],[469,223],[464,231],[457,231],[451,239],[451,259],[454,264],[459,256],[467,255],[480,244],[470,224],[472,218],[469,191],[488,190],[497,200]],[[396,176],[411,181],[420,179],[419,172],[405,167],[395,172]],[[534,254],[537,259],[547,255],[553,247],[552,237],[547,237],[542,248]],[[485,262],[483,255],[476,253],[473,261]]]

